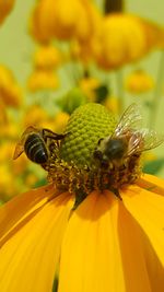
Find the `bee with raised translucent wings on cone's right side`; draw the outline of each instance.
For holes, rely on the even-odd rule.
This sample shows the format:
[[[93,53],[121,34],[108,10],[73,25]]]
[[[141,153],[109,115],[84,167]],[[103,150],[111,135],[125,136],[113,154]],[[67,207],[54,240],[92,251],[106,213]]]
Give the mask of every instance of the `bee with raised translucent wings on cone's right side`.
[[[142,128],[142,116],[137,104],[131,104],[122,114],[112,136],[99,139],[94,151],[101,166],[124,165],[126,159],[132,157],[129,167],[143,151],[156,148],[164,142],[164,137],[154,130]]]

